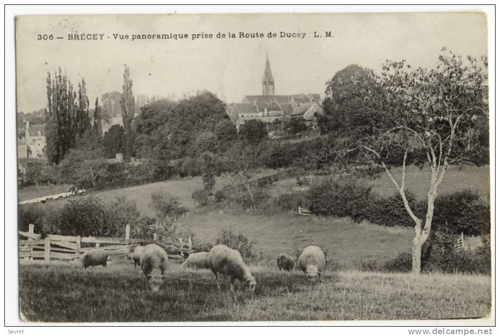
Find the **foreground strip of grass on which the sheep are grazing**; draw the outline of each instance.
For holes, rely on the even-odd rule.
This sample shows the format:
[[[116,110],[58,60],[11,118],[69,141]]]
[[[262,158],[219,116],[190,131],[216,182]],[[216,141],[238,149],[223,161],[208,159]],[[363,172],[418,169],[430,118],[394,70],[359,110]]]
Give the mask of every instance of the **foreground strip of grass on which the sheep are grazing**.
[[[217,290],[207,270],[172,270],[152,293],[129,263],[20,265],[19,304],[25,320],[44,322],[433,319],[485,316],[491,305],[486,276],[327,271],[311,283],[296,270],[251,270],[250,298]]]

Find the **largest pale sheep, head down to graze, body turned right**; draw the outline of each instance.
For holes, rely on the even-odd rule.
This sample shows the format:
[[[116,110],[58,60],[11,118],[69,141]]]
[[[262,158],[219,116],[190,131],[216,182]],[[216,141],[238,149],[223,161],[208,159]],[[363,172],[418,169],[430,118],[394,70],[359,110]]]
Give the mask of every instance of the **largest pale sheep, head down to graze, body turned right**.
[[[243,262],[241,254],[235,249],[225,245],[215,245],[210,249],[210,269],[217,278],[217,288],[220,289],[218,273],[229,275],[231,278],[230,290],[234,291],[234,280],[238,279],[240,283],[251,294],[255,291],[255,278]]]

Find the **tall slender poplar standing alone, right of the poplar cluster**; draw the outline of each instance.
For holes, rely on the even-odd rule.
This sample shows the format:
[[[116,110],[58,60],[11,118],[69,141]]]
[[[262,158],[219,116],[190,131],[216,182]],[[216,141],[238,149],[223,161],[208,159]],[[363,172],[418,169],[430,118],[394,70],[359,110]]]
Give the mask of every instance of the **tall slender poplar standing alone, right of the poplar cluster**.
[[[132,157],[133,150],[132,120],[135,101],[132,93],[132,79],[130,79],[130,70],[127,65],[125,65],[123,71],[123,93],[121,94],[120,105],[121,117],[123,118],[123,129],[125,131],[125,157],[129,160]]]

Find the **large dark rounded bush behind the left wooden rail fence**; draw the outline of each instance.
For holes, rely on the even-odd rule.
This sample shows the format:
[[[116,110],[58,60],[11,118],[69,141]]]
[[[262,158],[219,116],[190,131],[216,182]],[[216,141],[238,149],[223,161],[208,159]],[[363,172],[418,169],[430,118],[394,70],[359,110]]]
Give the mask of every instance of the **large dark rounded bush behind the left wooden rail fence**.
[[[113,221],[102,199],[93,195],[66,203],[57,221],[63,235],[113,237],[123,235],[124,227]]]

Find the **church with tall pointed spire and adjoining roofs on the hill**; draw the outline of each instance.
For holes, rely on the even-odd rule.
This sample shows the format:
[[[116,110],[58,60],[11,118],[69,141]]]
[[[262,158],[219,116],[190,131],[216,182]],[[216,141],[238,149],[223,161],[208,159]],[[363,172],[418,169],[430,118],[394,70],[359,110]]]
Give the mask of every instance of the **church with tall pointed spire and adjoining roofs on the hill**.
[[[322,100],[317,93],[299,93],[290,95],[275,94],[274,77],[266,55],[264,75],[262,77],[262,94],[245,95],[240,103],[227,105],[230,120],[239,129],[247,120],[260,120],[271,124],[275,120],[285,121],[299,117],[313,124],[316,117],[324,110]]]

